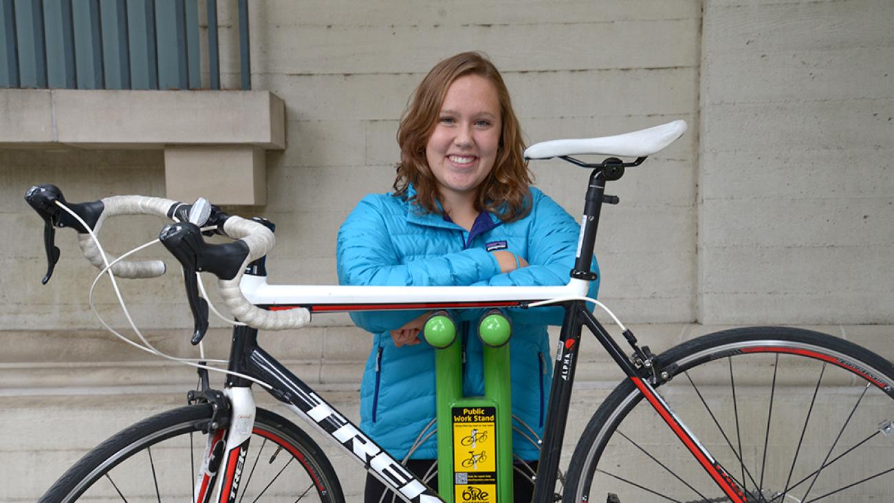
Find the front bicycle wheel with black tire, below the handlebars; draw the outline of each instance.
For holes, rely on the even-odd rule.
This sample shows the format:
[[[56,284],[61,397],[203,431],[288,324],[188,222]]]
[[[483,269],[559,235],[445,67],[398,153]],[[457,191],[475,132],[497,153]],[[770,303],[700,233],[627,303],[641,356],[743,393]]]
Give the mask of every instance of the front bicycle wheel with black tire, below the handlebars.
[[[207,434],[202,429],[211,415],[208,404],[189,405],[159,413],[119,431],[83,456],[38,503],[106,500],[109,496],[127,501],[191,501],[195,473],[206,447]],[[275,451],[268,448],[268,443],[275,446]],[[143,452],[148,456],[141,456]],[[270,456],[269,462],[267,456]],[[146,470],[147,458],[150,470]],[[177,466],[164,464],[174,459]],[[295,460],[298,464],[290,467]],[[181,462],[190,465],[191,470],[183,469]],[[288,501],[295,501],[296,497],[300,501],[344,501],[341,484],[325,453],[307,433],[276,413],[257,409],[245,463],[239,501],[280,501],[285,496],[289,496]],[[270,473],[277,471],[270,480]],[[113,472],[114,478],[110,475]],[[286,478],[281,478],[281,474]],[[295,480],[298,475],[300,482]],[[159,478],[163,476],[170,478],[159,485]],[[177,479],[176,484],[173,478]]]

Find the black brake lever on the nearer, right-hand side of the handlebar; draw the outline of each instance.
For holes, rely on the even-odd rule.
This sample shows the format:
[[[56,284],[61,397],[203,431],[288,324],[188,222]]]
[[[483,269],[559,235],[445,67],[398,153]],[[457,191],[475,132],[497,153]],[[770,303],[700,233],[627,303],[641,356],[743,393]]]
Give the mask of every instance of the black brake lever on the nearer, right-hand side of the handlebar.
[[[180,261],[183,268],[183,284],[186,286],[186,297],[190,301],[192,311],[193,332],[190,337],[192,345],[201,342],[208,329],[208,303],[198,296],[199,269],[198,260],[201,251],[201,230],[190,222],[179,222],[164,226],[158,239],[168,252]]]

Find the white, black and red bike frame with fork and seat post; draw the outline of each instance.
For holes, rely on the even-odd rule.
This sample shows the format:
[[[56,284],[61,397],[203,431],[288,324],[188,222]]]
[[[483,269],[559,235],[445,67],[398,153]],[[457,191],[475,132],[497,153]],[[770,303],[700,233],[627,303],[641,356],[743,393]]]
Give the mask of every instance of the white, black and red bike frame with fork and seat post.
[[[639,158],[635,163],[623,164],[620,160],[611,158],[600,165],[585,165],[576,159],[566,158],[580,166],[595,167],[589,177],[586,192],[577,260],[566,286],[486,288],[275,286],[266,283],[266,270],[263,260],[260,260],[256,261],[249,268],[250,272],[242,277],[240,289],[249,302],[257,307],[267,310],[305,308],[311,313],[467,308],[527,309],[530,304],[543,301],[561,305],[565,310],[565,316],[561,326],[560,344],[556,354],[557,365],[552,376],[552,392],[544,423],[544,439],[537,469],[534,501],[553,500],[581,330],[586,326],[730,501],[745,503],[745,493],[738,483],[714,460],[662,396],[655,391],[654,387],[664,379],[660,362],[645,347],[640,348],[636,337],[625,329],[623,335],[634,350],[633,357],[628,357],[586,308],[586,292],[590,282],[596,277],[595,272],[591,271],[590,264],[600,211],[603,202],[617,202],[616,197],[605,194],[605,183],[619,179],[625,166],[637,166],[644,159]],[[426,487],[424,482],[410,473],[398,460],[369,439],[356,424],[350,422],[344,414],[261,349],[257,345],[257,329],[249,327],[233,329],[229,370],[269,384],[272,388],[267,391],[271,395],[314,425],[318,431],[331,437],[336,444],[363,465],[367,473],[392,488],[401,499],[414,503],[441,501],[434,490]],[[196,483],[195,501],[199,503],[208,501],[231,503],[236,500],[255,417],[251,384],[249,379],[228,375],[223,393],[230,406],[230,418],[225,429],[216,429],[209,435],[205,455],[206,469],[200,473]],[[313,471],[310,473],[313,474]],[[325,490],[319,478],[316,478],[316,483],[319,490]],[[211,499],[212,493],[217,495],[216,499]]]

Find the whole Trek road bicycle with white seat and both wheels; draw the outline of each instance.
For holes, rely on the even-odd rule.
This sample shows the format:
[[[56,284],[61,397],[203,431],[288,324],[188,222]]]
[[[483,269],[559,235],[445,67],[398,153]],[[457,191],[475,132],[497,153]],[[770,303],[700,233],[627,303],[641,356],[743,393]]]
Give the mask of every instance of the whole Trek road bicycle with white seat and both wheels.
[[[546,141],[526,150],[527,158],[561,158],[592,169],[578,259],[566,286],[271,286],[266,281],[264,257],[273,247],[274,234],[266,222],[231,217],[201,201],[190,206],[160,198],[114,196],[92,203],[67,204],[55,187],[33,187],[26,200],[46,222],[45,283],[58,260],[54,246],[57,226],[71,226],[79,231],[85,255],[103,269],[100,275],[111,272],[147,277],[163,273],[163,265],[129,262],[122,260],[124,256],[110,262],[93,241],[94,230],[98,231],[106,217],[152,214],[177,222],[164,227],[160,240],[181,262],[195,320],[193,344],[200,344],[208,316],[208,304],[198,294],[203,288],[197,279],[198,271],[215,273],[224,303],[240,320],[233,328],[223,390],[210,387],[205,365],[190,362],[200,367],[201,377],[200,388],[190,392],[190,405],[158,414],[106,440],[73,465],[41,501],[86,498],[88,490],[96,491],[97,497],[130,496],[125,499],[129,501],[160,501],[163,496],[182,500],[188,498],[190,490],[192,500],[203,503],[211,500],[215,491],[215,501],[227,502],[237,500],[237,496],[267,500],[286,494],[289,500],[297,496],[343,501],[339,479],[325,453],[293,423],[256,409],[253,384],[265,388],[325,437],[333,439],[368,473],[392,488],[397,497],[419,503],[440,501],[434,490],[409,473],[400,460],[389,456],[261,349],[257,345],[257,329],[298,328],[308,324],[312,313],[534,309],[543,305],[561,305],[565,318],[544,439],[540,440],[535,501],[552,501],[559,496],[568,502],[607,499],[624,503],[789,503],[817,499],[853,501],[889,494],[894,477],[894,449],[890,445],[890,434],[894,432],[894,366],[890,362],[836,337],[777,327],[725,330],[655,355],[647,346],[639,345],[632,331],[607,307],[584,297],[589,282],[595,279],[595,273],[589,269],[590,257],[603,203],[619,202],[616,196],[605,193],[606,183],[619,180],[628,168],[641,165],[646,157],[671,144],[685,130],[686,124],[677,121],[611,137]],[[586,154],[611,157],[597,164],[572,157]],[[623,162],[618,157],[636,160]],[[203,232],[225,234],[235,241],[207,244],[202,239]],[[114,276],[109,275],[114,282]],[[629,345],[630,356],[587,309],[588,304],[609,314]],[[562,475],[561,441],[584,327],[626,378],[587,423],[568,472]],[[789,389],[782,387],[785,383],[809,384]],[[717,394],[709,389],[717,384],[728,386],[729,391]],[[662,394],[658,388],[662,388]],[[777,397],[777,393],[785,396]],[[746,413],[749,417],[766,416],[766,422],[746,420]],[[774,423],[781,415],[785,421]],[[808,438],[807,434],[814,430],[821,435],[824,431],[832,434],[824,439]],[[194,445],[193,437],[198,432],[203,438],[198,444],[204,447]],[[675,448],[654,452],[654,446],[667,445],[669,438]],[[174,440],[181,443],[169,443]],[[261,444],[253,459],[249,457],[249,442],[252,447]],[[274,450],[272,456],[269,450],[265,451],[267,443],[275,446],[270,449]],[[181,462],[181,471],[176,473],[180,479],[159,485],[162,476],[177,472],[169,465],[174,459]],[[283,484],[285,479],[280,479],[279,473],[293,461],[297,461],[292,466],[296,473],[290,476],[295,479]],[[133,470],[144,472],[136,477],[128,474],[132,471],[124,472],[116,480],[110,473],[122,464],[136,465]],[[185,465],[190,469],[183,468]],[[245,473],[247,469],[249,473]],[[257,474],[260,469],[269,469],[272,475],[253,486],[261,480]],[[832,472],[834,477],[830,476]],[[299,475],[305,482],[294,482]],[[135,483],[132,494],[122,493],[131,490],[123,488],[125,482]],[[556,493],[557,482],[561,483],[561,495]],[[279,492],[267,492],[274,485]]]

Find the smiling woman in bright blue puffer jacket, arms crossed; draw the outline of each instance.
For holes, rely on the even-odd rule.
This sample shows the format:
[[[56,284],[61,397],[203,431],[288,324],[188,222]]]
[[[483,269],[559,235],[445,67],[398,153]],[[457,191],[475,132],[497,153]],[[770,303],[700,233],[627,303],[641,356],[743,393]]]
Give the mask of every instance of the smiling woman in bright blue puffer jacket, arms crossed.
[[[519,121],[500,72],[483,55],[462,53],[434,65],[414,92],[397,134],[401,162],[394,192],[360,200],[338,235],[342,285],[564,285],[575,260],[579,226],[531,188]],[[594,264],[594,269],[595,264]],[[590,295],[595,296],[594,282]],[[512,412],[516,426],[543,434],[552,375],[547,324],[559,308],[510,311]],[[437,456],[434,349],[419,338],[427,312],[352,313],[375,335],[360,387],[360,424],[420,476]],[[482,395],[482,311],[456,311],[466,396]],[[528,437],[530,435],[527,435]],[[536,461],[537,448],[513,435],[515,454]],[[536,465],[536,464],[535,464]],[[429,482],[437,487],[436,482]],[[529,501],[529,478],[516,473],[516,499]],[[384,487],[367,478],[367,501]],[[390,499],[388,499],[390,500]]]

